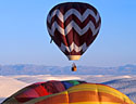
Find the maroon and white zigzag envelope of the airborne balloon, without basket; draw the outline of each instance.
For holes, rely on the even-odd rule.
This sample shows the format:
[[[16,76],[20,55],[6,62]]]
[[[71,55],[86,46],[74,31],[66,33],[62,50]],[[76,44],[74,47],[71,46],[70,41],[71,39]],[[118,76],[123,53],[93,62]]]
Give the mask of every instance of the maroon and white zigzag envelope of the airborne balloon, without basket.
[[[50,10],[47,17],[51,39],[69,60],[79,60],[96,39],[100,25],[98,11],[82,2],[58,4]]]

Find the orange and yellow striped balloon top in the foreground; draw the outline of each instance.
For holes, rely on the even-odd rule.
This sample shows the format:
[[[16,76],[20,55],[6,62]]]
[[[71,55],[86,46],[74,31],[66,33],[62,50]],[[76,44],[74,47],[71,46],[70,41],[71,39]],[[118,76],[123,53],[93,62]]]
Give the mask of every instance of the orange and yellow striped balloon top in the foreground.
[[[66,91],[35,99],[35,104],[134,104],[125,94],[104,84],[83,83]]]

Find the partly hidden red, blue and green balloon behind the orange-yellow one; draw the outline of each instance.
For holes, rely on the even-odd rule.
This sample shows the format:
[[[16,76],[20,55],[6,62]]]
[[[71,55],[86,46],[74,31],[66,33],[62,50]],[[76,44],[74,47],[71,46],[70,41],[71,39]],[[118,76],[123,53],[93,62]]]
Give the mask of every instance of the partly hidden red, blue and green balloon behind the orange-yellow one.
[[[33,83],[16,93],[14,93],[11,98],[7,99],[4,104],[14,104],[14,102],[17,103],[25,103],[29,100],[50,95],[53,93],[59,93],[62,91],[65,91],[70,87],[84,83],[85,81],[78,81],[78,80],[67,80],[67,81],[47,81],[47,82],[37,82]]]

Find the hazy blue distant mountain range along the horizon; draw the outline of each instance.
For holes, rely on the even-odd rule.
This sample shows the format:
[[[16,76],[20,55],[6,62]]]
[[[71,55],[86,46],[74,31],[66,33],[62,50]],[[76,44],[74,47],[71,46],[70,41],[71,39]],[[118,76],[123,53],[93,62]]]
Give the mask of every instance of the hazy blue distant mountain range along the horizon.
[[[119,67],[77,66],[77,72],[71,72],[71,66],[45,65],[1,65],[0,75],[136,75],[136,65]]]

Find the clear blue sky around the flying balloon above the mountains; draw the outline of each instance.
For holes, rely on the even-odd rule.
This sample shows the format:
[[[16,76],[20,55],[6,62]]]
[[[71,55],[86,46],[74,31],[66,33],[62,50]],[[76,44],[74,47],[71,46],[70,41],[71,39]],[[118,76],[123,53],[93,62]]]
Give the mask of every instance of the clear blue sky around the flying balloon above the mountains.
[[[50,43],[46,17],[65,1],[87,2],[98,9],[99,36],[77,65],[136,64],[136,0],[0,0],[0,64],[71,65]]]

